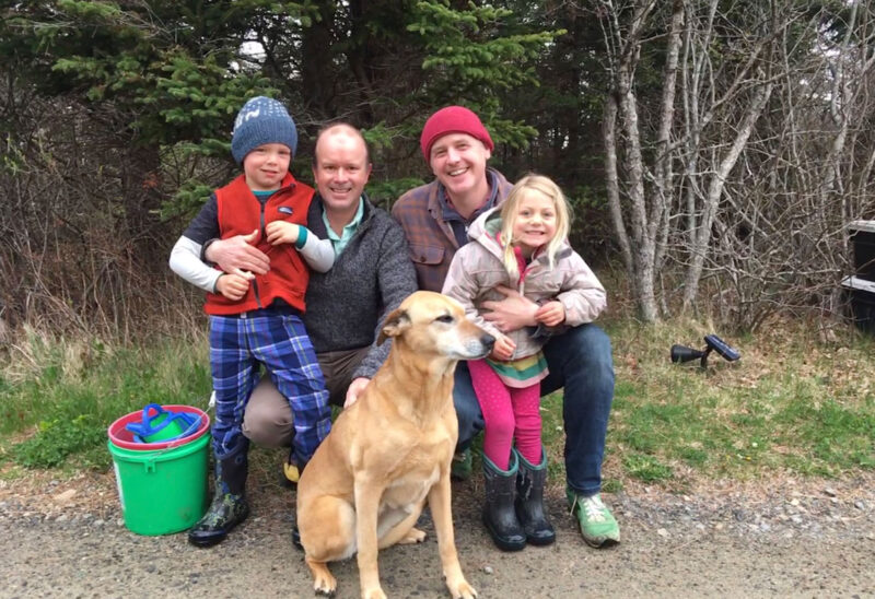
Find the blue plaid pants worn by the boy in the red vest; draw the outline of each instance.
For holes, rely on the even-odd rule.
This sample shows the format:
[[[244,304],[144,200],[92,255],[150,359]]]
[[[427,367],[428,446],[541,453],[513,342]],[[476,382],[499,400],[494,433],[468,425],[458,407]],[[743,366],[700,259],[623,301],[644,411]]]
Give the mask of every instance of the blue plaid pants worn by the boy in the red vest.
[[[292,459],[303,467],[331,428],[331,410],[313,344],[294,314],[255,310],[235,317],[210,316],[215,457],[234,455],[246,443],[241,430],[243,413],[259,363],[289,400],[295,428]]]

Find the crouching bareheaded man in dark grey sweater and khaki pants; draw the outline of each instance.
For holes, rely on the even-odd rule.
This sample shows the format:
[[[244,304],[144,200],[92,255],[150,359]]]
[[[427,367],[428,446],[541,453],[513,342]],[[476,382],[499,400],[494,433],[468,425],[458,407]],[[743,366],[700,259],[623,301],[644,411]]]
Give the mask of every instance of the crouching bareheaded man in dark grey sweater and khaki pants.
[[[361,132],[346,124],[319,131],[313,158],[317,192],[307,228],[330,239],[335,262],[327,272],[312,272],[304,325],[316,350],[330,402],[349,406],[388,355],[376,344],[377,329],[401,300],[417,290],[404,231],[364,195],[371,174]],[[243,236],[205,244],[203,257],[225,272],[264,273],[267,256]],[[253,391],[243,432],[268,447],[289,445],[294,434],[289,402],[268,377]],[[296,472],[287,468],[287,478]]]

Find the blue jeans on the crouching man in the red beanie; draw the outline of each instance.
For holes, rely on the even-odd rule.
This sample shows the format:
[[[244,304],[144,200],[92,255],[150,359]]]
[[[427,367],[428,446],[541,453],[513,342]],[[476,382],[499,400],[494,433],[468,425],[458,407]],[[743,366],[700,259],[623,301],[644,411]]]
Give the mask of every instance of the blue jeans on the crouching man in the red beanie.
[[[544,354],[550,374],[541,380],[541,396],[564,387],[562,418],[568,485],[581,495],[598,493],[614,401],[610,339],[596,325],[581,325],[550,339]],[[483,430],[483,415],[465,362],[456,367],[453,403],[458,418],[458,449],[467,449],[475,435]]]

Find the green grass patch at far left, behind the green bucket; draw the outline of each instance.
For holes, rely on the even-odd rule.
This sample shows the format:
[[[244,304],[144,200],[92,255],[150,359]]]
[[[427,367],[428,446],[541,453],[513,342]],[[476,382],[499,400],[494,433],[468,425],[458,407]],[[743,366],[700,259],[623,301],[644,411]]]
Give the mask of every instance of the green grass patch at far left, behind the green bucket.
[[[182,343],[108,351],[32,341],[27,355],[18,363],[12,356],[0,375],[0,460],[27,468],[107,468],[107,427],[116,419],[151,402],[206,408],[206,348]],[[30,368],[15,368],[22,362]]]

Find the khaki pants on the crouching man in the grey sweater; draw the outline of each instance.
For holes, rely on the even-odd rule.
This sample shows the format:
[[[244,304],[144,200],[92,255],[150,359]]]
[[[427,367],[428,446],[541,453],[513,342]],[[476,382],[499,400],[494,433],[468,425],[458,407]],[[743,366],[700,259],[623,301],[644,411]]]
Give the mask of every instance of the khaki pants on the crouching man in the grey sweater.
[[[316,354],[325,377],[325,387],[328,389],[328,401],[332,406],[343,407],[347,389],[352,383],[352,374],[370,349],[360,348]],[[277,390],[267,373],[261,377],[246,403],[246,411],[243,414],[243,434],[262,447],[289,447],[292,445],[294,436],[292,409],[289,401]]]

